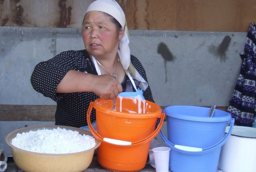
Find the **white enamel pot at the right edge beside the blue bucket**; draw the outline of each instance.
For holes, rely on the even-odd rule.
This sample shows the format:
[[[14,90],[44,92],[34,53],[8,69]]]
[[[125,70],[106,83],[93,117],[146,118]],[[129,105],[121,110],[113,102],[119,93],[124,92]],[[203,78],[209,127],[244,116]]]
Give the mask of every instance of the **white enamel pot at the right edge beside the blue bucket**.
[[[228,129],[226,127],[226,131]],[[256,171],[256,128],[233,127],[228,141],[222,146],[218,167],[223,172]]]

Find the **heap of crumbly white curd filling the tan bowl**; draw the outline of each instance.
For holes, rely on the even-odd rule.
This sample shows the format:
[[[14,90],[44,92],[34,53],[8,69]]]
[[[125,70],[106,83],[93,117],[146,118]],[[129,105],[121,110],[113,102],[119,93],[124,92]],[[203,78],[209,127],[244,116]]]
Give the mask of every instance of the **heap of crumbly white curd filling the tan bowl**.
[[[96,145],[95,138],[65,128],[42,129],[18,133],[11,144],[22,150],[45,154],[81,152]]]

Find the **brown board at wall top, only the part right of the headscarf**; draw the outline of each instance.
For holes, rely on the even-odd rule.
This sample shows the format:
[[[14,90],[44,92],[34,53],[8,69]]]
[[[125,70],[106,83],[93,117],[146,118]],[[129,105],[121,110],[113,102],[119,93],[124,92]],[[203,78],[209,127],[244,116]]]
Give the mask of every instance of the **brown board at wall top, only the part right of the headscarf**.
[[[119,0],[129,29],[247,32],[255,0]]]

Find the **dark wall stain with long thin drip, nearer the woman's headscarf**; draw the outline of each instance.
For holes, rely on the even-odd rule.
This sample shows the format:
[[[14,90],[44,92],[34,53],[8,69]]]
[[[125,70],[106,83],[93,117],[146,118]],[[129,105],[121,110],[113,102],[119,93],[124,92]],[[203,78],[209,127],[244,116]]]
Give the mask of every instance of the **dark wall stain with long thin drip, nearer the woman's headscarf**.
[[[167,67],[166,67],[166,63],[169,62],[174,62],[175,56],[172,54],[172,52],[170,51],[170,49],[168,48],[168,46],[163,43],[160,42],[158,44],[157,47],[157,53],[160,54],[162,56],[162,58],[164,59],[164,65],[165,65],[165,83],[167,82]]]

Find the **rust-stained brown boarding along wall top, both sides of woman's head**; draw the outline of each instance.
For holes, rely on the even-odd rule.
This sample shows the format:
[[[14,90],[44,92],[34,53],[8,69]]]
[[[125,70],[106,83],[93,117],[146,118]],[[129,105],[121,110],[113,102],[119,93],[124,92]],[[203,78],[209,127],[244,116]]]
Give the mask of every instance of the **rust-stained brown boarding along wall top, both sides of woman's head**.
[[[247,32],[250,23],[256,22],[255,0],[116,1],[126,14],[129,29]],[[0,25],[14,27],[78,28],[90,4],[82,0],[0,2]]]

